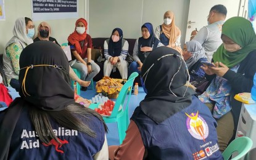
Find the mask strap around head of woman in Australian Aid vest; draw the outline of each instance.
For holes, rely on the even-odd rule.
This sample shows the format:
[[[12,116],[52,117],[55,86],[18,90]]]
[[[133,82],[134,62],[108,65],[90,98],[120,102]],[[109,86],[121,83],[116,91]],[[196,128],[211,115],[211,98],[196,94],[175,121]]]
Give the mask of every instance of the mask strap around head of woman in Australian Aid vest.
[[[30,96],[30,94],[27,93],[27,90],[26,90],[26,87],[25,87],[27,73],[28,73],[29,69],[33,69],[35,66],[51,66],[51,67],[57,68],[59,70],[63,70],[63,71],[65,71],[65,73],[68,73],[68,71],[64,70],[64,68],[62,68],[62,66],[57,66],[57,65],[30,65],[30,66],[25,66],[23,68],[20,68],[20,70],[26,69],[25,75],[24,75],[24,78],[23,78],[23,81],[22,81],[22,92],[23,92],[23,95],[25,97],[26,97],[26,95]]]

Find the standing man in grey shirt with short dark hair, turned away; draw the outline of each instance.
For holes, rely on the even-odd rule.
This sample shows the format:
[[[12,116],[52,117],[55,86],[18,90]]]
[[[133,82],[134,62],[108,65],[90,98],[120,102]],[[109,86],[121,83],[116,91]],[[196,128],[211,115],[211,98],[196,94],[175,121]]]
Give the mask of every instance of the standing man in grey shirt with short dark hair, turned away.
[[[199,41],[204,47],[207,60],[212,61],[213,53],[222,44],[221,41],[221,28],[226,18],[226,7],[218,4],[210,9],[207,16],[208,25],[199,30],[192,41]]]

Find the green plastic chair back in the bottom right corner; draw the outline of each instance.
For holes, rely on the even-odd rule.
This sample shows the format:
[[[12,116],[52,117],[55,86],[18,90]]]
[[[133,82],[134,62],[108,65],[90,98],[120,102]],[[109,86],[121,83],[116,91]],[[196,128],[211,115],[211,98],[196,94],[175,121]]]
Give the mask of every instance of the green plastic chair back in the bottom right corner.
[[[238,160],[245,156],[250,151],[250,148],[252,148],[252,140],[249,137],[238,137],[228,145],[222,156],[224,160],[228,160],[233,153],[237,152],[237,156],[232,160]]]

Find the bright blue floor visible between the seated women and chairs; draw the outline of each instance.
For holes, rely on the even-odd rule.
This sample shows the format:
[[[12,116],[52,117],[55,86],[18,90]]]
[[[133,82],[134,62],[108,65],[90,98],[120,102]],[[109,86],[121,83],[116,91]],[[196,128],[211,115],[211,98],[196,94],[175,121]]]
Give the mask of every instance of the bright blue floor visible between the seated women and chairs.
[[[86,90],[85,92],[81,91],[80,95],[83,98],[91,99],[96,94],[97,93],[96,93],[95,88],[94,88],[94,90],[91,90],[90,88],[88,88],[88,90]],[[144,99],[145,95],[146,94],[145,94],[144,90],[142,89],[142,87],[139,87],[139,94],[138,95],[131,94],[130,103],[129,103],[129,106],[128,106],[129,107],[128,111],[129,111],[129,116],[130,117],[133,114],[133,111],[136,108],[136,106],[139,105],[139,102],[141,102],[141,100]],[[116,99],[113,99],[113,100],[115,101]],[[107,127],[109,127],[109,133],[107,134],[107,143],[108,143],[108,145],[119,145],[117,123],[107,123]]]

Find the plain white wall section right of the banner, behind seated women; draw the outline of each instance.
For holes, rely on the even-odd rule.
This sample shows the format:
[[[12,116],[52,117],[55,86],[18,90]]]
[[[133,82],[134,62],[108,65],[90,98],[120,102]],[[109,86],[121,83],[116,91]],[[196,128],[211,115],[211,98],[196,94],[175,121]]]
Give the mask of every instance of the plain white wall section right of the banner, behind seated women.
[[[181,30],[184,43],[188,20],[188,0],[89,0],[89,28],[93,38],[108,38],[119,27],[123,38],[139,38],[141,26],[151,22],[154,29],[163,23],[163,14],[175,13],[175,23]]]

